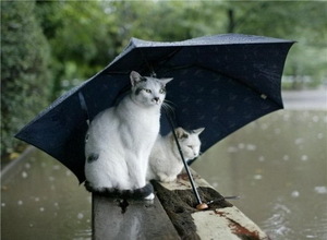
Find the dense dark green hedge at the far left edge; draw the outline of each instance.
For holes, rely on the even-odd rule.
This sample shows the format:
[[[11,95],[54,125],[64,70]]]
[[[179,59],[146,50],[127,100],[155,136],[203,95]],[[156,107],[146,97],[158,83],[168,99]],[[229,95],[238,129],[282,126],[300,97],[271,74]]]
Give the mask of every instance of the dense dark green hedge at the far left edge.
[[[34,2],[1,2],[1,155],[14,134],[48,104],[49,49],[34,17]]]

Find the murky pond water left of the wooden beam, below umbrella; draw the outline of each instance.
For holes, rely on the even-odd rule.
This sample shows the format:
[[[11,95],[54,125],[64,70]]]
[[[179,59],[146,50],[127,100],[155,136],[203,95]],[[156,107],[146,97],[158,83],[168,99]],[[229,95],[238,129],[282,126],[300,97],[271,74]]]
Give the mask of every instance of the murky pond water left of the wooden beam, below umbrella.
[[[90,208],[76,177],[35,149],[2,179],[1,239],[90,239]]]

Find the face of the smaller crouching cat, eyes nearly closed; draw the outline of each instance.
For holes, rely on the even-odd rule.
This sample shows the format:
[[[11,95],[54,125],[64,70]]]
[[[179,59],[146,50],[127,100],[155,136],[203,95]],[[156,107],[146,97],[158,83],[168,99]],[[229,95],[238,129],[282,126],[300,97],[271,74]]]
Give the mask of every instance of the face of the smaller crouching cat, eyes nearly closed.
[[[204,128],[196,129],[191,132],[187,132],[182,128],[175,129],[175,133],[185,159],[193,159],[199,155],[201,141],[198,135],[203,131]]]

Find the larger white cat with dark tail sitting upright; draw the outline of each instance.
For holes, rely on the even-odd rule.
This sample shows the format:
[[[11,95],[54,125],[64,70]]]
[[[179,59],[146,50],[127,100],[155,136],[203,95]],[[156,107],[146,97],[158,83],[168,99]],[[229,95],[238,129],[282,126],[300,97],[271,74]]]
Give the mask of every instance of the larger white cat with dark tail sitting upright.
[[[172,79],[130,74],[131,93],[99,112],[85,139],[85,187],[101,195],[154,199],[148,157],[160,128],[166,84]]]

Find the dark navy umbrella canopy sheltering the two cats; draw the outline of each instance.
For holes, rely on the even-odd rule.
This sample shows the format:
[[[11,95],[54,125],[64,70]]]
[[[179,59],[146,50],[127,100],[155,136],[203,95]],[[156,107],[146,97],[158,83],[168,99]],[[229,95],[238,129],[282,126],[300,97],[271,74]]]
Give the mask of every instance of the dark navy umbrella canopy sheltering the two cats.
[[[84,181],[87,119],[117,104],[135,70],[174,79],[166,99],[173,103],[175,124],[206,128],[202,133],[205,152],[246,123],[283,107],[281,74],[293,43],[239,34],[174,43],[132,38],[108,67],[58,98],[16,137],[53,156]],[[170,131],[165,117],[160,131]]]

